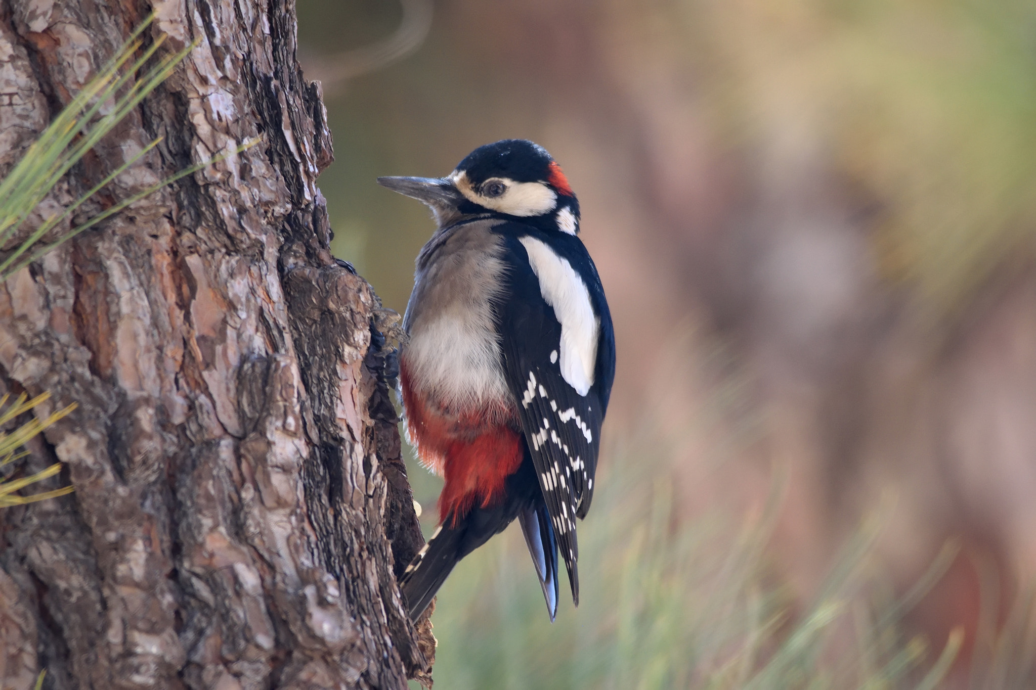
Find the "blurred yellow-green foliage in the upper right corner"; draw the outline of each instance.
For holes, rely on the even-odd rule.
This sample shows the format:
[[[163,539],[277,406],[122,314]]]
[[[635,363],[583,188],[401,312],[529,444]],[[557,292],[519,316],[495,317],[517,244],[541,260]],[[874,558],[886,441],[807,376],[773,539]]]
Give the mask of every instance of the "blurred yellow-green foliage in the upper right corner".
[[[720,112],[814,131],[876,212],[884,276],[951,313],[1036,250],[1036,4],[683,2],[718,54]],[[693,47],[688,46],[692,50]],[[723,80],[723,81],[719,81]],[[779,123],[777,123],[779,124]],[[787,123],[784,126],[788,126]]]

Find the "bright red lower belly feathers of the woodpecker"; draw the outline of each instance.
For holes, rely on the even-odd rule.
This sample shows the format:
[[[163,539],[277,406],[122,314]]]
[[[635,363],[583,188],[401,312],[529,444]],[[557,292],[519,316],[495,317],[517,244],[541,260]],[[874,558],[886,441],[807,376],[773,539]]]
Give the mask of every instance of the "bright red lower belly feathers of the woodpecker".
[[[445,478],[439,494],[439,521],[463,517],[472,506],[487,508],[503,498],[508,476],[522,460],[518,419],[502,403],[487,409],[443,410],[413,390],[405,361],[400,383],[407,439],[425,467]]]

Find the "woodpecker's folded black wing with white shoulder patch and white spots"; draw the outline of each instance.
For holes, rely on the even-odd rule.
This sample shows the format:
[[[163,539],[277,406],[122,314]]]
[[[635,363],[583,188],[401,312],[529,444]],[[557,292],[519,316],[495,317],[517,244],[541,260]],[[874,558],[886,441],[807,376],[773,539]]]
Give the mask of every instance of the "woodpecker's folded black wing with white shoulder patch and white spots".
[[[565,237],[559,248],[528,234],[508,238],[497,325],[505,378],[578,602],[576,517],[589,507],[606,399],[596,385],[601,316],[574,268],[589,258],[578,239]],[[611,369],[607,376],[610,388]]]

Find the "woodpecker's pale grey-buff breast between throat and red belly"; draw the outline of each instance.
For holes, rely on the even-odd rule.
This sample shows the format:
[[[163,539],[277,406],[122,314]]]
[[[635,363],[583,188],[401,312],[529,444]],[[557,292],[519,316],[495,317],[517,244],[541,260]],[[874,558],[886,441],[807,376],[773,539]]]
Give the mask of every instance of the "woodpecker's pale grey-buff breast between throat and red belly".
[[[505,265],[502,241],[474,220],[440,230],[418,256],[402,350],[409,385],[455,412],[510,400],[492,300]]]

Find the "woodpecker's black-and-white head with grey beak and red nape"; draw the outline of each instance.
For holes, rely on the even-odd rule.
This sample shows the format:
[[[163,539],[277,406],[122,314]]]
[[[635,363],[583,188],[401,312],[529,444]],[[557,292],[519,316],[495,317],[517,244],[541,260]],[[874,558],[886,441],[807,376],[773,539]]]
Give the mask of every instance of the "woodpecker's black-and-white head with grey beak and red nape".
[[[560,167],[524,139],[480,146],[442,178],[379,177],[378,183],[426,204],[440,228],[465,216],[496,215],[579,232],[579,202]]]

